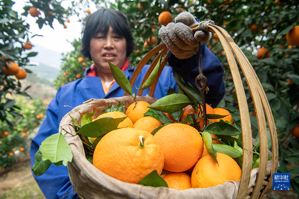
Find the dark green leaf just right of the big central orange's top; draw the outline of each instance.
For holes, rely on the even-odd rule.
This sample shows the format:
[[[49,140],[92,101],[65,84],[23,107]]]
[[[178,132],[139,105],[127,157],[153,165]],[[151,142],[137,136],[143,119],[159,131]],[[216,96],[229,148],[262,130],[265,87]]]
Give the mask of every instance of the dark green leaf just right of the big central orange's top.
[[[225,122],[214,122],[212,124],[209,124],[205,128],[205,132],[208,132],[210,134],[229,136],[237,136],[241,133],[237,128]]]

